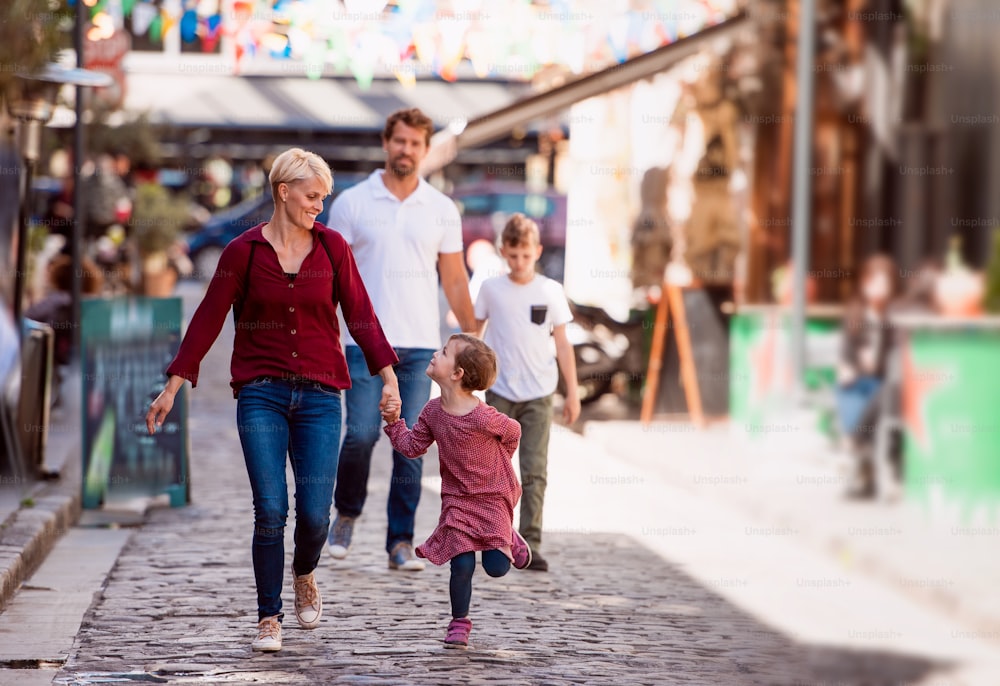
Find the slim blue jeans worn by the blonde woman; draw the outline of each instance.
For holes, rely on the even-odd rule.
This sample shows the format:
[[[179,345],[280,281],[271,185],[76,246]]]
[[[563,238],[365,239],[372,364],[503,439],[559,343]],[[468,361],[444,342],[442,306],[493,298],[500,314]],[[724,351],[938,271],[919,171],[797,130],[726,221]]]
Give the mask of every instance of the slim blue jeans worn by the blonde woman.
[[[286,456],[295,476],[292,570],[302,576],[316,568],[330,528],[340,418],[340,393],[319,384],[261,380],[240,389],[236,422],[253,490],[258,619],[281,616]]]

